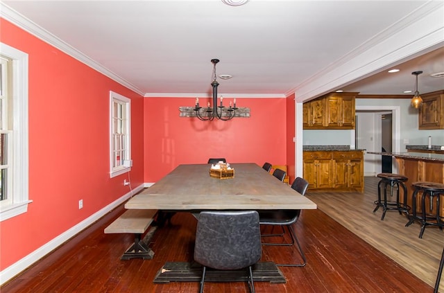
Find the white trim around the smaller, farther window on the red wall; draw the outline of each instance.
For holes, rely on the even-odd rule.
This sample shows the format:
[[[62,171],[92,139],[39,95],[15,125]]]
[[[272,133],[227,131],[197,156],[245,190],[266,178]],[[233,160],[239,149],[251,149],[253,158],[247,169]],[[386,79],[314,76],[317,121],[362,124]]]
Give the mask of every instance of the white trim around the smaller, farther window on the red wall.
[[[126,154],[128,156],[128,160],[131,160],[131,100],[130,98],[126,98],[120,94],[115,93],[114,91],[110,91],[110,178],[116,177],[118,175],[124,174],[126,172],[130,172],[131,167],[118,166],[117,168],[112,167],[112,162],[114,161],[114,148],[113,148],[113,103],[114,100],[119,101],[120,103],[126,104],[126,146],[127,151]]]

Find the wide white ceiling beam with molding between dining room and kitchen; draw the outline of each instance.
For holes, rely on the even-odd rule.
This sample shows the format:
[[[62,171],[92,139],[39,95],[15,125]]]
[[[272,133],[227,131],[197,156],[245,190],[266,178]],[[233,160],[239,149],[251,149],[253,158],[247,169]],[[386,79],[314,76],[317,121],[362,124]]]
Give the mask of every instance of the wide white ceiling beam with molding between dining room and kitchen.
[[[301,103],[444,46],[443,9],[443,1],[428,1],[299,87],[287,91],[286,96],[295,93]]]

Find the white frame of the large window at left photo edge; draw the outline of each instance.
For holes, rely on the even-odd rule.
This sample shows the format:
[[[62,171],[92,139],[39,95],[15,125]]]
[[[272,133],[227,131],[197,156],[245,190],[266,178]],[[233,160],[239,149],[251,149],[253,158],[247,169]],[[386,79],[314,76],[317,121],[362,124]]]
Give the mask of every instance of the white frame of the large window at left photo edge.
[[[28,54],[0,42],[0,55],[12,60],[11,200],[0,202],[0,222],[28,211]],[[10,93],[11,94],[11,93]]]

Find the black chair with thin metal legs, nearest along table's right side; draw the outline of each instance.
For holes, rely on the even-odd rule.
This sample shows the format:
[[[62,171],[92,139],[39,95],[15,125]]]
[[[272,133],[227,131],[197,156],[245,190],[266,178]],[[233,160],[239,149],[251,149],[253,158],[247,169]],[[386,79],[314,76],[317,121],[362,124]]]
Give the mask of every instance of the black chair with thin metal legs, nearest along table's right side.
[[[305,196],[305,192],[309,183],[307,180],[296,177],[294,179],[293,184],[291,184],[291,188],[298,191],[302,196]],[[300,242],[298,240],[298,236],[296,236],[295,231],[293,230],[293,224],[296,223],[299,219],[300,210],[276,210],[276,211],[259,211],[259,222],[262,225],[272,225],[272,226],[280,226],[282,230],[284,227],[287,227],[289,231],[291,242],[284,243],[273,243],[273,242],[263,242],[262,245],[281,245],[281,246],[291,246],[295,242],[298,245],[300,256],[302,256],[302,263],[287,263],[287,264],[277,264],[285,267],[304,267],[307,263],[305,258],[304,251],[302,251],[302,247],[300,247]],[[284,233],[281,234],[262,234],[262,236],[283,236]]]

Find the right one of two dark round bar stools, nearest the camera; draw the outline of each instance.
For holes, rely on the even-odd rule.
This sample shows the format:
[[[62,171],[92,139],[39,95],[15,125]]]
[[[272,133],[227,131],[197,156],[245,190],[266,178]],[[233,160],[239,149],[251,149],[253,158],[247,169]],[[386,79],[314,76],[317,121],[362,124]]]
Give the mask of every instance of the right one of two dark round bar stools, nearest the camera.
[[[405,227],[409,227],[413,222],[418,221],[421,223],[421,231],[419,233],[419,238],[422,238],[424,234],[425,227],[427,226],[438,226],[439,229],[443,230],[444,222],[443,216],[441,216],[441,195],[444,195],[444,184],[429,182],[429,181],[418,181],[412,184],[415,190],[411,196],[412,202],[412,213],[410,215],[410,220]],[[420,214],[416,208],[418,193],[422,191],[420,199]],[[426,204],[426,199],[428,199],[429,205]],[[434,203],[436,205],[434,207]]]

